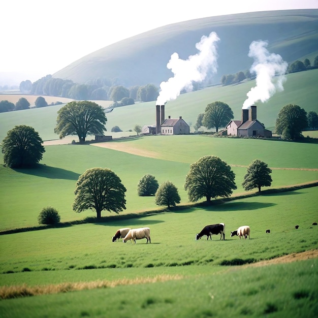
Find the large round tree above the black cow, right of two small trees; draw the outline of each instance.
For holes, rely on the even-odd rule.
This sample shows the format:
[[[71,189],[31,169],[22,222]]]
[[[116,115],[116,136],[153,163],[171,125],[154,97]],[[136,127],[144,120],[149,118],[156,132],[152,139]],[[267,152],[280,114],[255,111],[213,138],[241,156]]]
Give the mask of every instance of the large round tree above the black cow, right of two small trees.
[[[232,189],[236,189],[235,174],[231,167],[219,157],[206,155],[190,165],[190,171],[185,177],[184,189],[188,198],[196,202],[206,198],[228,197]]]

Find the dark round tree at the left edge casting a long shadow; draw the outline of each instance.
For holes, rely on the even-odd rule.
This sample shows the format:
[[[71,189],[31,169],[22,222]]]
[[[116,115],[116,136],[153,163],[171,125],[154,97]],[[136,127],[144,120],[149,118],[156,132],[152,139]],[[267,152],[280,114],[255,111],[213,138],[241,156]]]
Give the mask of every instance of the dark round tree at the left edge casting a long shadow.
[[[33,127],[15,126],[2,142],[5,165],[10,168],[35,166],[45,152],[42,143],[39,133]]]

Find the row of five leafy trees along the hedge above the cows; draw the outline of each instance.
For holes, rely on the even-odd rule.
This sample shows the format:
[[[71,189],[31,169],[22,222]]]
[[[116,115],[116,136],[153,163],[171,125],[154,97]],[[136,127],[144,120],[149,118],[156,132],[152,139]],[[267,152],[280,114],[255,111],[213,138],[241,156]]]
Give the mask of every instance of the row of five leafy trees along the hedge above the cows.
[[[272,178],[271,169],[267,164],[253,161],[247,168],[242,186],[245,190],[270,186]],[[188,192],[191,202],[206,198],[229,197],[236,189],[235,174],[231,167],[220,158],[207,155],[190,165],[186,175],[184,189]],[[87,209],[96,211],[97,218],[101,218],[103,210],[119,213],[125,209],[126,188],[120,178],[110,169],[92,168],[85,171],[76,182],[75,201],[73,210],[82,212]],[[180,203],[177,187],[170,181],[159,186],[152,175],[144,175],[138,183],[138,195],[155,196],[155,204],[168,208]]]

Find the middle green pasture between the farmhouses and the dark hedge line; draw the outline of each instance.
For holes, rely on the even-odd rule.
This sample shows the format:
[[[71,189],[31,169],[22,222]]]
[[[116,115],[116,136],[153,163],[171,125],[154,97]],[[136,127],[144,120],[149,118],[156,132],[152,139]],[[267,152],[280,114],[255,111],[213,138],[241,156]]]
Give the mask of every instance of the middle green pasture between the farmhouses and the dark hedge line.
[[[0,230],[36,226],[37,217],[46,206],[56,208],[62,222],[96,216],[90,210],[80,214],[72,211],[76,181],[86,169],[93,167],[113,170],[126,187],[126,210],[120,214],[163,208],[154,204],[154,197],[137,195],[138,181],[145,174],[154,175],[160,184],[167,180],[174,183],[181,204],[188,204],[187,193],[183,189],[185,176],[190,164],[207,154],[219,156],[232,165],[237,184],[234,195],[245,193],[241,183],[246,167],[256,158],[269,167],[279,168],[272,170],[272,187],[318,179],[317,171],[306,170],[317,168],[318,147],[312,143],[201,135],[149,136],[113,142],[121,143],[123,147],[148,150],[158,158],[91,145],[56,145],[45,147],[39,169],[13,170],[0,166]],[[0,162],[2,160],[1,155]],[[104,211],[102,215],[114,213]]]

